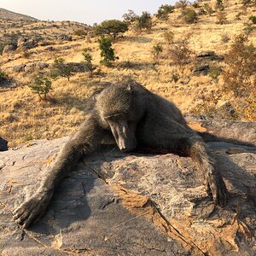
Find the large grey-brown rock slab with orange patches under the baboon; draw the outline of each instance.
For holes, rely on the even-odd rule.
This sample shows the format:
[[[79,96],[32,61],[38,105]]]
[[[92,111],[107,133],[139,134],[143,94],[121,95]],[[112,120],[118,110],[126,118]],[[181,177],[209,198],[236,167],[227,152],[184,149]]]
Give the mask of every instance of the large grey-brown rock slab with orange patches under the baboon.
[[[209,144],[230,191],[224,208],[191,159],[106,148],[74,166],[44,218],[20,230],[11,212],[66,141],[0,153],[2,255],[255,255],[255,148],[228,143]]]

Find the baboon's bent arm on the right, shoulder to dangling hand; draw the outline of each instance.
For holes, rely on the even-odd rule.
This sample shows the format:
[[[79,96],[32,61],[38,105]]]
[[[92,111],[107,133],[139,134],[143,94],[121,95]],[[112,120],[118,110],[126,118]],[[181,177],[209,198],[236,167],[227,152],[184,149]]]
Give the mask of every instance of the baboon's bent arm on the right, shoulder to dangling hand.
[[[147,131],[147,132],[146,132]],[[227,189],[223,178],[216,169],[215,160],[202,138],[190,129],[172,119],[162,119],[153,125],[148,124],[143,132],[143,140],[152,147],[170,149],[192,157],[204,173],[207,192],[212,194],[215,204],[224,206]]]

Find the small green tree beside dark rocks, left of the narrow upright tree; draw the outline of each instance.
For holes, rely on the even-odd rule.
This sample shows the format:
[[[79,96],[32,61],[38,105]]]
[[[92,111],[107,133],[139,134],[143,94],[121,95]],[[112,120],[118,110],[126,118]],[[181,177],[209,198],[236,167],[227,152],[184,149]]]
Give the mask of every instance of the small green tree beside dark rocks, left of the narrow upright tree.
[[[67,78],[69,81],[70,77],[73,75],[73,66],[70,63],[65,63],[64,59],[55,59],[54,64],[51,69],[51,77],[56,79],[58,77]]]

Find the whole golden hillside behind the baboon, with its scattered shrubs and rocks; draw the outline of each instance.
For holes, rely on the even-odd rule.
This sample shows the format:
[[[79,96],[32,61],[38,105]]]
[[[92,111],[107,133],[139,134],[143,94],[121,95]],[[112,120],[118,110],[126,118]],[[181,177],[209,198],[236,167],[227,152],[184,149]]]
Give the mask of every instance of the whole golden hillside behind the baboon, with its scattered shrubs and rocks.
[[[115,35],[72,21],[0,19],[1,136],[11,146],[26,141],[28,130],[33,138],[66,136],[84,120],[88,96],[124,76],[183,113],[256,120],[253,4],[179,1],[156,14],[128,10],[116,22],[128,30]],[[192,21],[183,20],[187,14]],[[40,95],[50,101],[27,86],[38,73],[51,82]]]

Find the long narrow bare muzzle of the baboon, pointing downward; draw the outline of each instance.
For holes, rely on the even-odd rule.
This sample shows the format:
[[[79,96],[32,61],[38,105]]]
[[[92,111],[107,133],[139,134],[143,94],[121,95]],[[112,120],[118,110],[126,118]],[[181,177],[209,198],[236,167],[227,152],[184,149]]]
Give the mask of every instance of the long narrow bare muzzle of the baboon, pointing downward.
[[[129,152],[136,148],[137,141],[132,125],[129,126],[126,120],[118,120],[117,122],[112,122],[109,125],[115,142],[118,144],[119,149],[122,152]]]

